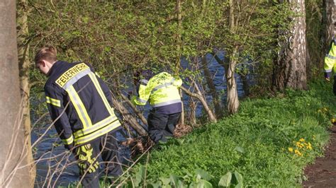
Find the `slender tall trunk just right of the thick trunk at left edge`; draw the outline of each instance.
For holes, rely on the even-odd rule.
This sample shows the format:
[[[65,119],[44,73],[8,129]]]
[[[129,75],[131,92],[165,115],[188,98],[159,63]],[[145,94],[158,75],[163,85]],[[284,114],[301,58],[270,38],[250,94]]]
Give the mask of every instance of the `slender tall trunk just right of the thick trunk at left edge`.
[[[29,41],[28,41],[28,4],[26,0],[18,1],[17,7],[17,32],[18,32],[18,69],[20,76],[21,100],[23,102],[23,127],[25,128],[25,139],[27,143],[27,163],[30,165],[30,187],[34,187],[35,182],[35,163],[31,149],[30,139],[30,105],[29,105]]]

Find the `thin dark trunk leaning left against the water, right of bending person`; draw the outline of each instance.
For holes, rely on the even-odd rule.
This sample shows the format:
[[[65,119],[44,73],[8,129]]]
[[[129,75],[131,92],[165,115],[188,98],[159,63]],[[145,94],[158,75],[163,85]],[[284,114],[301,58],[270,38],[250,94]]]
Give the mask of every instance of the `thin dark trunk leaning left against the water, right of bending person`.
[[[202,57],[202,67],[204,71],[204,76],[206,77],[206,83],[209,87],[211,96],[213,97],[213,105],[215,107],[215,115],[217,118],[222,117],[222,107],[220,106],[220,100],[217,95],[215,84],[213,84],[213,76],[208,69],[208,61],[206,61],[206,56]]]

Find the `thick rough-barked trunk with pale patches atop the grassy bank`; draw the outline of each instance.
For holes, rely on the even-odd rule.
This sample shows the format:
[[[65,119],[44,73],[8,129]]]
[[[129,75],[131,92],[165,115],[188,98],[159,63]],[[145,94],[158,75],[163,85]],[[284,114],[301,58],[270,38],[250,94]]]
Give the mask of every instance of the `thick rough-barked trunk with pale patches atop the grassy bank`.
[[[280,42],[278,59],[274,62],[274,90],[284,88],[307,89],[306,78],[306,14],[305,2],[289,0],[291,9],[298,16],[291,18],[291,30],[284,31],[286,40]],[[282,31],[281,31],[282,32]],[[281,35],[280,32],[280,35]]]

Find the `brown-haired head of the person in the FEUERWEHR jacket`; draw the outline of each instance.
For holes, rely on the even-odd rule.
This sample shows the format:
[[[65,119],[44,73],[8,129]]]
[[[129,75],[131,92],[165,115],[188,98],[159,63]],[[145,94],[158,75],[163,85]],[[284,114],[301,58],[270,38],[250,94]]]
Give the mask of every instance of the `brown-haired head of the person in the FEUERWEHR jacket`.
[[[40,73],[49,75],[52,65],[57,61],[57,51],[55,47],[47,46],[41,48],[35,55],[35,66],[40,69]]]

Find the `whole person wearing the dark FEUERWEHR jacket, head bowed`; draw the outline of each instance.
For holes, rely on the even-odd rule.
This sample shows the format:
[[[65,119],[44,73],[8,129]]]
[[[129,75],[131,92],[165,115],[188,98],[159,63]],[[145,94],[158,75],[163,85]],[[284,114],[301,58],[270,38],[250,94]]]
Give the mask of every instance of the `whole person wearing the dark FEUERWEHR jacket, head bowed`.
[[[47,107],[65,148],[77,158],[83,187],[99,187],[99,157],[104,172],[118,177],[116,131],[121,123],[113,112],[111,93],[91,65],[57,60],[54,47],[35,55],[35,66],[48,77]]]

